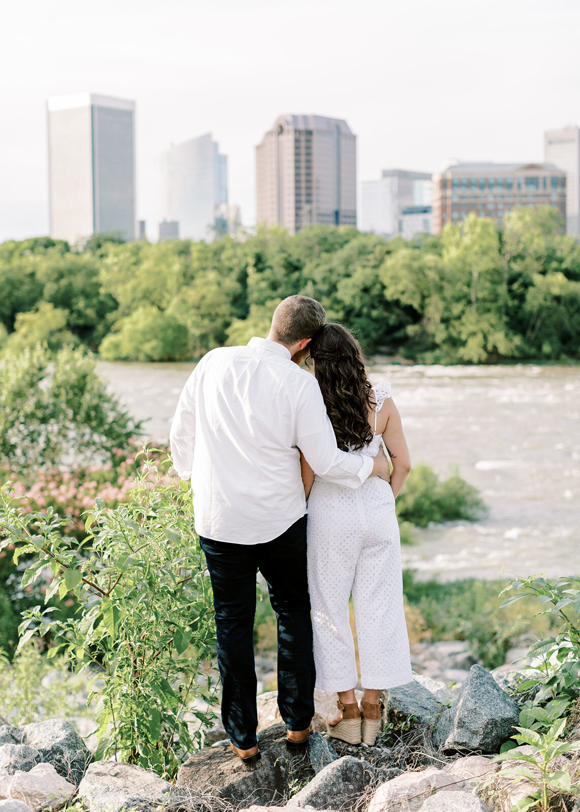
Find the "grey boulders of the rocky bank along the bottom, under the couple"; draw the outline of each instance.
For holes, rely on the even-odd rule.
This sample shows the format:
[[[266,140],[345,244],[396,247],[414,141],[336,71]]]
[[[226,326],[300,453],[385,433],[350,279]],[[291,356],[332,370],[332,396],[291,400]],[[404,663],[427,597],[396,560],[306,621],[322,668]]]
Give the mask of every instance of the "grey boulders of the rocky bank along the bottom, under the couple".
[[[500,686],[499,682],[502,683]],[[219,725],[180,767],[175,784],[141,767],[93,760],[71,724],[58,719],[0,727],[0,812],[509,812],[530,781],[504,780],[491,761],[518,724],[509,677],[474,664],[454,697],[419,676],[384,696],[385,732],[374,747],[345,745],[321,730],[333,698],[317,692],[308,747],[286,747],[276,694],[258,698],[261,760],[246,767]],[[402,731],[402,732],[401,732]],[[558,757],[573,777],[578,764]],[[516,762],[517,763],[517,762]]]

